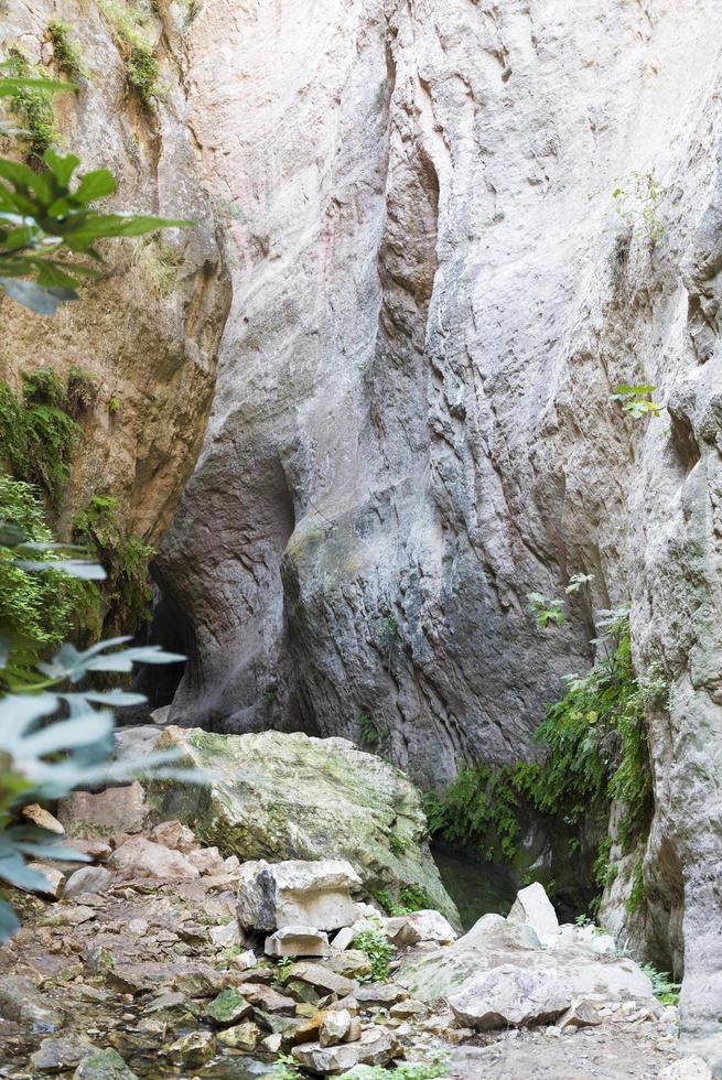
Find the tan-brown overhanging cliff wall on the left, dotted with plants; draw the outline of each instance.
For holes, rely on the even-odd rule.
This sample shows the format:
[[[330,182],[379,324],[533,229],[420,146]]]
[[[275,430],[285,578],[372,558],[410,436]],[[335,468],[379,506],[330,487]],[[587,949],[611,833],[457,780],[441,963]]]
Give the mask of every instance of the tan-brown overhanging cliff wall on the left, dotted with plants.
[[[143,19],[163,93],[150,114],[127,84],[114,21],[101,6],[9,0],[2,7],[2,55],[20,50],[63,77],[47,33],[58,19],[68,24],[85,72],[77,94],[54,98],[62,148],[76,152],[85,169],[112,171],[118,208],[192,218],[196,225],[160,239],[107,246],[107,280],[55,318],[0,300],[2,374],[12,380],[21,370],[51,367],[62,374],[77,365],[96,377],[98,397],[84,421],[65,520],[91,495],[108,493],[119,499],[127,528],[157,542],[201,446],[230,293],[185,121],[183,24],[180,14],[177,21],[171,13],[162,21]],[[114,398],[115,413],[108,409]]]

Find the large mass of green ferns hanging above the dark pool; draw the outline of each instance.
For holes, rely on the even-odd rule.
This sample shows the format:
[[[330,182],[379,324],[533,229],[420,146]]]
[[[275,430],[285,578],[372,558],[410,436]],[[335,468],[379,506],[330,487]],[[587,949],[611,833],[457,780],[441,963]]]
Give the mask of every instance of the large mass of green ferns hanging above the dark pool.
[[[597,626],[596,644],[605,655],[586,676],[568,677],[567,693],[547,708],[537,728],[545,760],[462,769],[442,797],[425,797],[432,834],[450,843],[472,843],[489,860],[497,850],[511,860],[525,807],[576,825],[597,812],[608,817],[614,800],[621,809],[616,834],[623,851],[646,835],[654,801],[645,705],[666,684],[656,670],[647,685],[637,679],[627,608],[597,613]],[[601,887],[611,885],[616,874],[611,849],[606,838],[594,867]]]

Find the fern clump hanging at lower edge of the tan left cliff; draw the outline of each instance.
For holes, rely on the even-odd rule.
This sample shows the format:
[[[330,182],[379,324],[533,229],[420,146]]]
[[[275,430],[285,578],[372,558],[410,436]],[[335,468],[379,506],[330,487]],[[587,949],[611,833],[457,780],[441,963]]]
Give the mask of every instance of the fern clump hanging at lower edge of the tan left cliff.
[[[154,552],[140,537],[126,532],[118,500],[111,495],[94,495],[73,518],[73,539],[107,573],[101,590],[108,608],[104,623],[131,631],[148,623],[152,607],[148,564]]]

